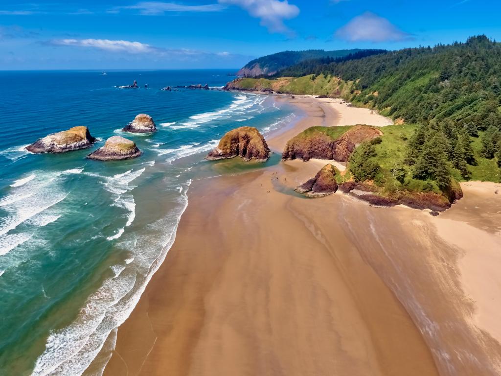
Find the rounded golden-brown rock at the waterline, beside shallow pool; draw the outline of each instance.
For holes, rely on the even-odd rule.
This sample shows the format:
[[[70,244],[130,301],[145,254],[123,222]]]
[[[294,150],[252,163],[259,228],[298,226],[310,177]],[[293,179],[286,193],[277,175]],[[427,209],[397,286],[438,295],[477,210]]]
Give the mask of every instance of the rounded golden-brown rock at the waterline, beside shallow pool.
[[[264,162],[270,157],[270,148],[265,137],[256,128],[240,127],[226,133],[205,159],[218,160],[236,156],[245,161],[256,159]]]

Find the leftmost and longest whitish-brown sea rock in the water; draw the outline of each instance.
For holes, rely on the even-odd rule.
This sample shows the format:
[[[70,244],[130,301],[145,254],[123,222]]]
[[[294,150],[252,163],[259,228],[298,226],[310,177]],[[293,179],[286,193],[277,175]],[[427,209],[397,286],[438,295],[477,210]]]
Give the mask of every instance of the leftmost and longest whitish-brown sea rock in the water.
[[[63,153],[88,148],[95,140],[89,128],[79,126],[40,138],[27,146],[26,150],[32,153]]]

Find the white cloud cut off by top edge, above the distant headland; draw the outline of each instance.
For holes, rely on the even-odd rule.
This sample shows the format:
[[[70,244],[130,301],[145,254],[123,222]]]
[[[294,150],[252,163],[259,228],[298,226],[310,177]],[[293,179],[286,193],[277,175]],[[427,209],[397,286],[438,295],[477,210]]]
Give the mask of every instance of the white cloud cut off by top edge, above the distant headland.
[[[219,4],[236,5],[248,12],[252,17],[259,18],[261,25],[266,26],[271,33],[291,34],[284,25],[284,20],[290,20],[299,15],[299,8],[289,4],[288,0],[218,0]]]

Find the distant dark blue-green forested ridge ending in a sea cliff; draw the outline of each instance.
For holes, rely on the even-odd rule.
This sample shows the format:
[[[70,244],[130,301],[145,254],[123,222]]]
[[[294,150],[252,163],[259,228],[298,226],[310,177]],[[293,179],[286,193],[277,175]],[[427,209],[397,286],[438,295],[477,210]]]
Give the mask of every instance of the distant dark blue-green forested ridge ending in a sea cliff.
[[[307,50],[307,51],[284,51],[273,55],[263,56],[248,62],[242,69],[238,71],[239,76],[257,77],[271,76],[278,71],[285,69],[291,65],[295,65],[305,60],[314,60],[322,58],[341,58],[350,54],[357,54],[363,51],[370,51],[369,54],[386,52],[385,50]],[[331,62],[327,60],[326,62]]]

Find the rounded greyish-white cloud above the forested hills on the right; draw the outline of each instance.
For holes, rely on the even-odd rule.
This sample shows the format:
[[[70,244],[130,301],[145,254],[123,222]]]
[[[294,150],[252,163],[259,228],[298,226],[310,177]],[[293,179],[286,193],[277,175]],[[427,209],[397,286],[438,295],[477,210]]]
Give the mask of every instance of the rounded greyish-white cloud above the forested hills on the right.
[[[412,39],[410,34],[371,12],[355,17],[335,35],[349,42],[397,42]]]

